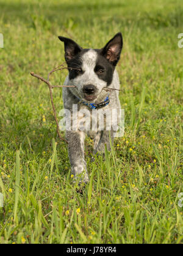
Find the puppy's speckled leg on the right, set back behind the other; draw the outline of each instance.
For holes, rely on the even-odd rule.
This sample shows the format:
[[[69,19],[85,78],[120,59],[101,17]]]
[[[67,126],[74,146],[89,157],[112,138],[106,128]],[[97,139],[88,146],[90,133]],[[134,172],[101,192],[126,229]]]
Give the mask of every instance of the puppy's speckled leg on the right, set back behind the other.
[[[96,145],[95,143],[94,153],[96,154],[97,152],[99,152],[99,154],[102,154],[102,156],[105,156],[105,145],[107,146],[107,150],[110,151],[111,150],[110,140],[111,140],[111,143],[113,144],[113,131],[110,130],[109,132],[109,130],[102,130],[100,132],[100,135],[101,136],[99,138],[98,144]]]

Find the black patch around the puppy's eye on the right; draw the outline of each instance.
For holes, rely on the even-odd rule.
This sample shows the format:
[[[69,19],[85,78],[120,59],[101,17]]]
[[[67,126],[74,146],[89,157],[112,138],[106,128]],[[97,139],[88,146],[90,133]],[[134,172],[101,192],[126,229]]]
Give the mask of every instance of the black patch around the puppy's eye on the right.
[[[106,81],[107,86],[112,83],[113,72],[115,66],[110,64],[110,62],[101,54],[101,50],[95,49],[98,53],[98,58],[96,59],[95,73],[98,75],[98,78]]]

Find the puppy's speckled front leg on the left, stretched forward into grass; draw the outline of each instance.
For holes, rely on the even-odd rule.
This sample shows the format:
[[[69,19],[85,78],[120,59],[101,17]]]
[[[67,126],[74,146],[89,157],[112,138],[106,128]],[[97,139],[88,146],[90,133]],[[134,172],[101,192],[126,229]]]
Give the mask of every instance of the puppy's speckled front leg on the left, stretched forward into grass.
[[[88,172],[87,164],[84,159],[84,140],[85,133],[79,130],[67,131],[66,139],[68,141],[68,154],[71,163],[71,172],[74,175],[75,181],[79,181],[79,184],[87,183]]]

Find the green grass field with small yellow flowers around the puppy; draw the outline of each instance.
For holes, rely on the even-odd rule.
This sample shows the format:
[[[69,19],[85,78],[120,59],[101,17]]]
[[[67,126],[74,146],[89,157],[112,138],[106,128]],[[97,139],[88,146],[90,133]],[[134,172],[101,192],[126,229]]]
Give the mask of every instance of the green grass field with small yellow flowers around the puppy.
[[[182,0],[0,0],[0,243],[183,243],[182,24]],[[94,163],[87,138],[79,194],[49,89],[30,72],[62,64],[57,36],[102,48],[119,31],[124,137]],[[54,103],[58,114],[60,88]]]

